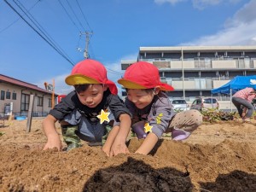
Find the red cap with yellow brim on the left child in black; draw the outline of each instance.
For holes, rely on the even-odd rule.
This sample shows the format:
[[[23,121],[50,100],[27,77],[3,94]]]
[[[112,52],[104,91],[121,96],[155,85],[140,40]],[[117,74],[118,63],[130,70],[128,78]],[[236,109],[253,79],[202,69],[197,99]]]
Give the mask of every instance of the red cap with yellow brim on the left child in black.
[[[86,59],[77,63],[65,79],[66,84],[107,84],[110,92],[117,95],[116,85],[108,80],[107,70],[99,61]]]

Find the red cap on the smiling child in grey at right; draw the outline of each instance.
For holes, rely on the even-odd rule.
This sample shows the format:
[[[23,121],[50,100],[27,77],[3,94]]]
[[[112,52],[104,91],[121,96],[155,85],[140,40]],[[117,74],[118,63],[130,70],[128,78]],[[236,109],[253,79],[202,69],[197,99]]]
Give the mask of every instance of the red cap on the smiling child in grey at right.
[[[160,90],[174,90],[169,84],[160,82],[159,70],[153,64],[139,61],[125,71],[123,79],[118,80],[127,89],[150,89],[160,86]]]

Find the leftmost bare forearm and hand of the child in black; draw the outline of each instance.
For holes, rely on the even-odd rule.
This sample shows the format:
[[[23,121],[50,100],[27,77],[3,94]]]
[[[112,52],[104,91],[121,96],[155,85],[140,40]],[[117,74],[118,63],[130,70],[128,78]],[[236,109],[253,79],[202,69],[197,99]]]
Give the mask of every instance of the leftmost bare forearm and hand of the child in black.
[[[44,119],[43,129],[47,137],[47,143],[44,145],[43,150],[48,148],[58,148],[58,150],[61,150],[61,139],[55,129],[56,121],[57,119],[50,114]]]

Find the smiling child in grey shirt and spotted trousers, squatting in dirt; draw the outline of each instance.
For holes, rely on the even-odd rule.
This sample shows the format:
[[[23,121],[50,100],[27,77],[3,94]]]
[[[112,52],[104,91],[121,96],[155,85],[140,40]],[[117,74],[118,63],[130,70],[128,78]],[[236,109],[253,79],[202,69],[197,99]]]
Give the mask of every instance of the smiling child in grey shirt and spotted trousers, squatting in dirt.
[[[127,92],[125,105],[132,114],[131,130],[138,139],[144,139],[136,153],[148,154],[164,132],[172,132],[172,140],[183,140],[201,125],[202,115],[199,111],[173,111],[164,93],[173,88],[160,82],[158,68],[153,64],[144,61],[132,64],[118,83]]]

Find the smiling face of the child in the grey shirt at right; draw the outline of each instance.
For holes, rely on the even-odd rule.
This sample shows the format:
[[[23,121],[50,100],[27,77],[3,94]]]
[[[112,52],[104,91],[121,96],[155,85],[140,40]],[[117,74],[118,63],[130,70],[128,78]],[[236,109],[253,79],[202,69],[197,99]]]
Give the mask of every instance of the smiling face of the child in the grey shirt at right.
[[[146,90],[127,90],[128,99],[135,104],[137,108],[147,107],[154,98],[154,91]]]

